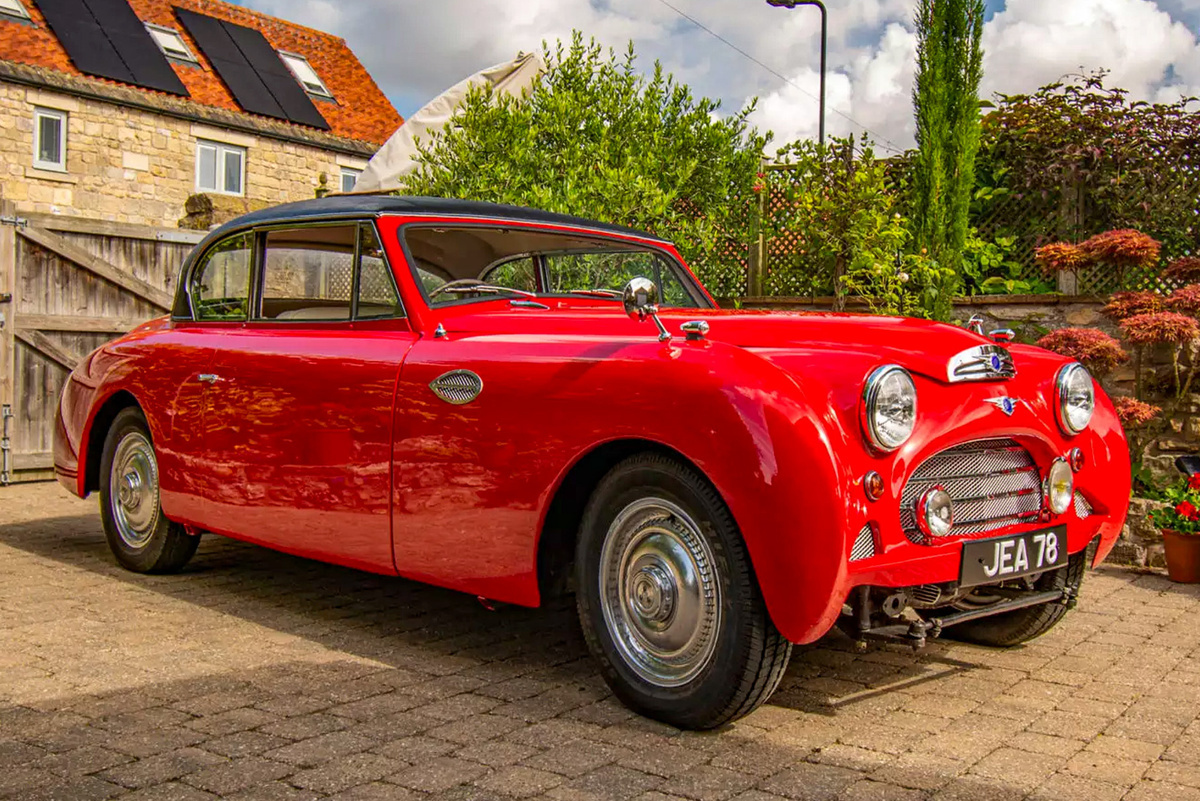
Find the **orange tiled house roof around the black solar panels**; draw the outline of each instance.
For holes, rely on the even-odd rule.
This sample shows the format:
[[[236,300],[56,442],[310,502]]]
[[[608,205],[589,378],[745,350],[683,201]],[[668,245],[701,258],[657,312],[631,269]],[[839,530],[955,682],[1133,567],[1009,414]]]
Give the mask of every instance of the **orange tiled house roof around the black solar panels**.
[[[173,62],[175,72],[191,92],[192,102],[245,113],[217,77],[204,52],[180,24],[173,6],[254,28],[263,32],[275,49],[308,59],[336,101],[313,101],[329,122],[330,133],[334,135],[382,145],[403,122],[371,74],[346,42],[337,36],[220,0],[128,0],[128,2],[142,22],[179,31],[192,53],[200,60],[199,67]],[[36,0],[23,0],[23,5],[29,11],[32,24],[13,22],[0,16],[0,59],[56,70],[71,76],[83,76],[84,73],[71,64],[66,49],[46,24]],[[125,85],[94,76],[85,77]],[[139,88],[139,90],[160,94],[148,89]]]

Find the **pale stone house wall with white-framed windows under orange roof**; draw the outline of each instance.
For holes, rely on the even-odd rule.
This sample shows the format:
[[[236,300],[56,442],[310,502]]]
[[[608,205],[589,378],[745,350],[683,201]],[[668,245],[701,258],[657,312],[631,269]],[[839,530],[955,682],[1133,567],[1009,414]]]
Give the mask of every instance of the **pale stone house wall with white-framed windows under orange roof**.
[[[34,108],[67,114],[67,169],[34,167]],[[196,188],[196,140],[246,149],[247,201],[312,198],[320,175],[338,186],[343,167],[366,159],[184,119],[0,82],[0,177],[18,213],[100,217],[174,227]]]

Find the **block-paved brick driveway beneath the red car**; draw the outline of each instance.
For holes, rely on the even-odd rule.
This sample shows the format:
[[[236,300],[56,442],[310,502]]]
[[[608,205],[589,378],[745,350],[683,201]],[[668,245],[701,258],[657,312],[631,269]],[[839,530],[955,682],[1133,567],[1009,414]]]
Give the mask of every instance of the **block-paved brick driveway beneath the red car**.
[[[95,501],[0,489],[0,797],[1200,800],[1200,590],[1104,568],[1046,637],[797,649],[707,734],[628,712],[568,604],[206,537],[119,570]]]

